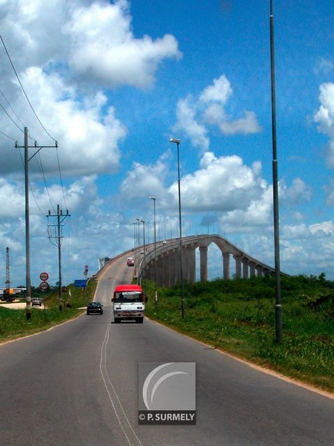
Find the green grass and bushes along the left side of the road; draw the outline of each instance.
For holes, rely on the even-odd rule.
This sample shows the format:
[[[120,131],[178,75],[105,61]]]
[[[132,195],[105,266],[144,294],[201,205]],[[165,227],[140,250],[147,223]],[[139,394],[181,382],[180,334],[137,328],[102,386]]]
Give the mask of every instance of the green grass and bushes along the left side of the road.
[[[73,319],[85,311],[94,297],[97,282],[90,280],[86,290],[77,289],[73,284],[63,293],[63,311],[59,311],[58,290],[40,294],[33,289],[32,298],[43,298],[42,307],[31,307],[31,320],[26,321],[25,309],[10,309],[0,305],[0,343],[37,333],[54,325]],[[25,302],[25,300],[22,300]],[[44,305],[45,304],[45,305]]]

